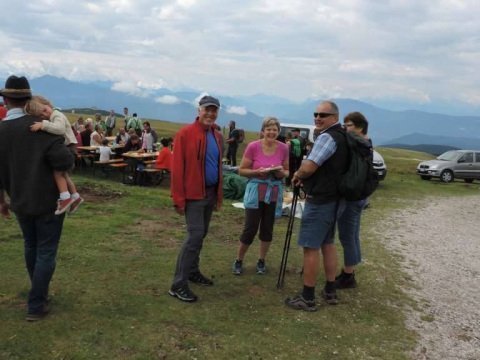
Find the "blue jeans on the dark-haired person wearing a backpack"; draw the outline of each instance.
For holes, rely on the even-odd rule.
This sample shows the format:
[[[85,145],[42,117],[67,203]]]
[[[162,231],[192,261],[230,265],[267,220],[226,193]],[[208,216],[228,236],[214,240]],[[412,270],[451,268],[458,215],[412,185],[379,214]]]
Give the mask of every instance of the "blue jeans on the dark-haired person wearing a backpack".
[[[345,266],[354,266],[362,261],[360,250],[360,218],[367,199],[347,201],[345,210],[338,218],[338,237],[343,247]]]

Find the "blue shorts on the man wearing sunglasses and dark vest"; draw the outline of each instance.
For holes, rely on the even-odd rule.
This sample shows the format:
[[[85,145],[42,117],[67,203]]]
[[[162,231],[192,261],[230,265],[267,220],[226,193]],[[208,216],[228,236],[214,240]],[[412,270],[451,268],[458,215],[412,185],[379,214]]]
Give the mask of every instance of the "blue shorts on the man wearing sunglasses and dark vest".
[[[305,202],[302,224],[298,234],[298,245],[319,249],[322,245],[333,244],[337,212],[344,208],[340,201],[326,204]]]

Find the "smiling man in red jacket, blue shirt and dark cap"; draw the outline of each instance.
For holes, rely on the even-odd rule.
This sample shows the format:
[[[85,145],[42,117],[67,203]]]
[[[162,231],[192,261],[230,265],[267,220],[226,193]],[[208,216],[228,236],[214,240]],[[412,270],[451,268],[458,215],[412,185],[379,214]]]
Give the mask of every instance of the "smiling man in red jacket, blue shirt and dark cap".
[[[181,301],[197,296],[188,282],[212,286],[200,272],[200,250],[214,209],[222,204],[222,142],[215,128],[220,102],[212,96],[199,101],[195,121],[175,136],[171,172],[171,194],[175,211],[185,216],[187,238],[177,258],[175,276],[168,293]]]

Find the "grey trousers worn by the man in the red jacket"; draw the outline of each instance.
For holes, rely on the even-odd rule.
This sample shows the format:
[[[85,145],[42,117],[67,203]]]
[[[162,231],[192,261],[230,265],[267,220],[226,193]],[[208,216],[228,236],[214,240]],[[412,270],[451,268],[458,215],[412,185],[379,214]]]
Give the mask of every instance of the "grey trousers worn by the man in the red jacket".
[[[217,202],[216,187],[207,187],[206,192],[205,199],[187,200],[185,204],[188,233],[178,254],[172,288],[187,285],[190,274],[200,271],[200,251],[203,239],[208,233],[213,208]]]

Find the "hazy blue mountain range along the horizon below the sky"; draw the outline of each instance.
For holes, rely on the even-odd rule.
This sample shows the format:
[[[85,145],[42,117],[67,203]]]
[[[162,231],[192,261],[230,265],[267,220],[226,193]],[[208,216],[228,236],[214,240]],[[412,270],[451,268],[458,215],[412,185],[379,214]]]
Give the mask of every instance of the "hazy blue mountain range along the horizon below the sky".
[[[49,98],[60,108],[114,109],[140,118],[189,123],[197,113],[196,100],[201,91],[150,90],[129,94],[113,90],[109,82],[82,83],[53,76],[31,80],[34,93]],[[222,108],[218,123],[226,126],[234,120],[237,127],[259,131],[262,118],[272,115],[281,122],[312,124],[313,112],[322,99],[293,102],[263,94],[251,96],[210,95],[220,99]],[[480,116],[454,116],[417,110],[394,111],[353,99],[333,99],[343,117],[351,111],[363,113],[369,120],[369,135],[376,145],[382,144],[436,144],[456,148],[480,149]]]

